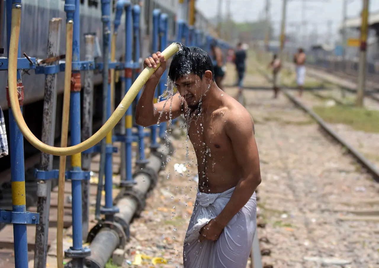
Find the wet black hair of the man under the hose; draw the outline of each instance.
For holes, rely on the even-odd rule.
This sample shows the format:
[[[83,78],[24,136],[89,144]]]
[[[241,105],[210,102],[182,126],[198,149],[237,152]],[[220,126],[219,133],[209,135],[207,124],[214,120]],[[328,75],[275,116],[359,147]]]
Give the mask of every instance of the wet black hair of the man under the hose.
[[[183,46],[172,57],[168,78],[171,81],[177,81],[184,75],[196,74],[200,79],[203,79],[207,70],[212,72],[213,81],[215,81],[212,60],[207,52],[196,46]]]

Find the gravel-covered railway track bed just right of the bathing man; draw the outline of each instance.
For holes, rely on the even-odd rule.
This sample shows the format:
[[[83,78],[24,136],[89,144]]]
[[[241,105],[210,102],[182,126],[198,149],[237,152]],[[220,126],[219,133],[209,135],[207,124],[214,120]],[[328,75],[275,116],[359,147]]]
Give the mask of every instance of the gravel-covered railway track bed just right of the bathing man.
[[[377,167],[290,92],[279,99],[257,89],[244,94],[263,174],[257,212],[263,265],[376,267]]]

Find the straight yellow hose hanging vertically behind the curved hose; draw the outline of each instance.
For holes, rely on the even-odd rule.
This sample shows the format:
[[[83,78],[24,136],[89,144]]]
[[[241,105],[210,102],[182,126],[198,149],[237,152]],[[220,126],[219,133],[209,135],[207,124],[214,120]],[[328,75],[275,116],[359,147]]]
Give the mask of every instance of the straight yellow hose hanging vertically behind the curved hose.
[[[67,147],[67,136],[69,132],[70,114],[70,91],[71,91],[71,71],[72,71],[72,32],[74,23],[72,20],[66,23],[66,68],[64,70],[64,91],[63,91],[63,116],[61,130],[61,146]],[[58,177],[58,218],[56,224],[56,258],[58,268],[63,268],[63,212],[64,212],[64,182],[66,174],[66,155],[59,158]]]

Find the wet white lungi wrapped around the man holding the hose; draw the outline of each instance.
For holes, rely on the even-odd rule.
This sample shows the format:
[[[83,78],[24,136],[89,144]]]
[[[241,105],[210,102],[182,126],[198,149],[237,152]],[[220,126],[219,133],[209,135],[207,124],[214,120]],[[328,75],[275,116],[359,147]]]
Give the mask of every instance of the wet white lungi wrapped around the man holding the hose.
[[[246,268],[257,223],[254,194],[216,241],[199,242],[199,231],[224,209],[234,188],[219,194],[197,192],[183,246],[184,268]]]

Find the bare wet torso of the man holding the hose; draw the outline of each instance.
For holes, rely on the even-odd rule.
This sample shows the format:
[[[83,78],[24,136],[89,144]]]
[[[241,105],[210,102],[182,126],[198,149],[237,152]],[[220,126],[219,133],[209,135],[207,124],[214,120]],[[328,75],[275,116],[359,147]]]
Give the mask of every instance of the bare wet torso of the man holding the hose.
[[[218,105],[203,110],[200,115],[189,116],[188,135],[196,153],[200,192],[224,192],[236,186],[242,177],[227,127],[233,121],[241,120],[238,114],[249,115],[234,98],[222,91],[220,94],[223,98]],[[252,124],[252,118],[246,122],[249,124]]]

